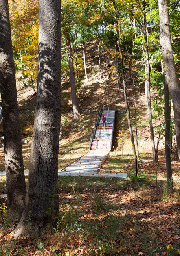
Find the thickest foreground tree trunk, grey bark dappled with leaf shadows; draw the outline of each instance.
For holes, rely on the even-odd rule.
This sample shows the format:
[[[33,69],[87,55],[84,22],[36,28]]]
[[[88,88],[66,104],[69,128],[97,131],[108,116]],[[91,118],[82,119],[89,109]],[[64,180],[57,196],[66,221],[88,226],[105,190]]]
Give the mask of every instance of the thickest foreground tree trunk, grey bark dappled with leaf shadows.
[[[61,2],[39,0],[37,103],[25,207],[16,237],[46,234],[55,223],[60,121]]]

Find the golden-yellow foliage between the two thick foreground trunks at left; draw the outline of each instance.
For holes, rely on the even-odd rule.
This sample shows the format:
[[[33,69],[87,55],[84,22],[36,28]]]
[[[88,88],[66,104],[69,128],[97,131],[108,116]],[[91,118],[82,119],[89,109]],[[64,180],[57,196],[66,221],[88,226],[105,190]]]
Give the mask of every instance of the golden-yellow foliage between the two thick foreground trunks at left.
[[[22,56],[24,74],[37,78],[38,0],[9,1],[12,43]],[[22,68],[18,66],[18,68]]]

